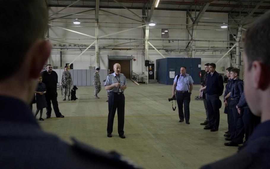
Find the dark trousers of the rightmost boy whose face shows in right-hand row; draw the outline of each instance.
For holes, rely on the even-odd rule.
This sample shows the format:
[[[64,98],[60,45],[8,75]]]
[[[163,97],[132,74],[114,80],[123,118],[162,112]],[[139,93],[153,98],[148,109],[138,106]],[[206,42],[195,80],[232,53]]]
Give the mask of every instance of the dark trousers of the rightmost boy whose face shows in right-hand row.
[[[242,117],[238,117],[239,113],[236,109],[236,105],[238,104],[239,99],[231,100],[230,102],[230,111],[232,112],[232,116],[234,118],[235,124],[235,134],[231,136],[232,141],[236,144],[242,144],[243,138],[245,134],[244,130],[244,122]]]

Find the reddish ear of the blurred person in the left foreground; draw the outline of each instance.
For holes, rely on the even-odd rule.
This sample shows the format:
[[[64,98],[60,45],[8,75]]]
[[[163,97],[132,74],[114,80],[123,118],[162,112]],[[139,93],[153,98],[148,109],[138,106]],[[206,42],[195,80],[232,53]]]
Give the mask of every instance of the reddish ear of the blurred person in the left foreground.
[[[39,41],[33,46],[31,51],[31,63],[30,63],[30,78],[37,78],[42,70],[44,63],[50,56],[51,46],[50,42]]]

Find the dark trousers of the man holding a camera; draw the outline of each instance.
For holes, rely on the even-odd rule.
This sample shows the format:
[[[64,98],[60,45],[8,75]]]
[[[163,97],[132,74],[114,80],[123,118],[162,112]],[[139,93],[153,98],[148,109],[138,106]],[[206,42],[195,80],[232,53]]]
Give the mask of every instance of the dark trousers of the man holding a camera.
[[[189,112],[189,103],[190,103],[190,93],[186,92],[186,93],[180,93],[176,91],[176,102],[177,102],[177,106],[178,106],[178,114],[179,114],[179,118],[180,120],[184,120],[185,121],[189,121],[189,116],[190,116],[190,112]],[[184,112],[185,112],[185,116],[183,113],[183,104],[184,104]]]

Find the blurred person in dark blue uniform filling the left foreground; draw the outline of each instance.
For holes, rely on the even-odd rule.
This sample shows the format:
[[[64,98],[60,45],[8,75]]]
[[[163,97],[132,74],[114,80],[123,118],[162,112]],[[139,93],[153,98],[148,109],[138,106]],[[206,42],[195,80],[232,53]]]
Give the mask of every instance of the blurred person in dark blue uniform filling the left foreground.
[[[41,129],[29,103],[50,55],[50,43],[43,40],[48,29],[45,1],[6,1],[0,13],[18,18],[16,22],[7,20],[0,28],[6,42],[2,44],[2,67],[10,68],[0,76],[0,168],[135,168],[115,152],[108,154],[75,139],[68,144]],[[18,29],[23,33],[14,33]],[[16,50],[10,45],[14,39],[20,43]]]

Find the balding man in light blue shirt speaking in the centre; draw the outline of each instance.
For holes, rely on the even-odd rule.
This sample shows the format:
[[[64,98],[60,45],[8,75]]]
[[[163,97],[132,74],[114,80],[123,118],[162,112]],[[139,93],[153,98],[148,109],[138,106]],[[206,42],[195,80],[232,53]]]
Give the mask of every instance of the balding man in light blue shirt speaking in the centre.
[[[124,135],[124,116],[125,116],[125,96],[124,90],[127,88],[127,79],[121,72],[121,65],[115,63],[113,65],[114,73],[107,76],[105,82],[105,90],[110,92],[109,96],[109,115],[107,125],[107,136],[112,137],[112,127],[115,112],[117,109],[118,116],[118,134],[121,138],[126,138]]]

